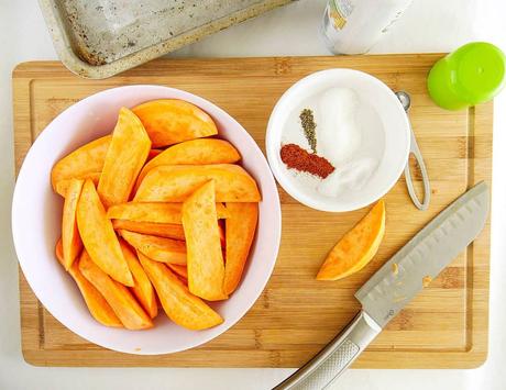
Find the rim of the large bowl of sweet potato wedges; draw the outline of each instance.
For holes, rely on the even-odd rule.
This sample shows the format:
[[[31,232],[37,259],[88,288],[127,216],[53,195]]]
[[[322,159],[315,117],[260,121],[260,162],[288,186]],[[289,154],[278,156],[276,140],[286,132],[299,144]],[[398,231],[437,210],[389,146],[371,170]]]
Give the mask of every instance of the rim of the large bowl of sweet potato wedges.
[[[218,333],[216,333],[216,334],[210,333],[209,335],[206,335],[205,337],[198,339],[195,343],[189,343],[185,347],[170,348],[170,349],[164,350],[164,352],[146,352],[145,349],[132,350],[132,349],[121,348],[121,347],[111,346],[111,345],[103,345],[102,343],[99,343],[96,339],[94,339],[92,334],[90,334],[92,332],[88,332],[88,331],[84,332],[82,330],[79,330],[78,326],[74,326],[74,325],[69,324],[68,321],[66,320],[66,317],[62,317],[61,315],[55,315],[56,304],[53,304],[51,298],[48,298],[48,296],[51,296],[51,293],[43,292],[43,291],[40,290],[40,288],[38,288],[40,286],[37,286],[37,282],[35,280],[36,278],[33,275],[33,270],[31,271],[29,263],[26,260],[23,260],[24,257],[21,255],[23,253],[23,249],[20,247],[20,244],[19,244],[19,242],[20,242],[19,237],[22,235],[23,225],[16,220],[16,214],[18,214],[20,208],[23,207],[23,203],[20,200],[19,192],[21,191],[21,187],[22,187],[20,185],[20,182],[22,183],[24,180],[28,179],[28,177],[26,177],[26,175],[28,175],[26,169],[28,168],[26,168],[25,161],[29,160],[31,158],[31,155],[33,155],[35,153],[34,151],[37,149],[37,145],[43,144],[44,140],[46,137],[51,136],[52,127],[57,126],[57,125],[55,125],[55,122],[56,123],[59,122],[62,120],[62,115],[64,113],[65,113],[65,115],[72,114],[72,112],[74,110],[79,109],[78,108],[79,105],[86,104],[86,102],[88,100],[96,99],[98,96],[113,94],[113,93],[117,93],[118,90],[127,90],[127,89],[142,89],[142,90],[151,89],[151,90],[160,90],[161,93],[165,92],[165,94],[177,94],[178,96],[177,98],[175,98],[175,97],[173,97],[173,98],[160,97],[157,99],[179,99],[179,100],[185,100],[185,101],[188,101],[188,102],[199,107],[200,109],[202,109],[205,112],[207,112],[209,115],[211,115],[211,118],[213,118],[213,120],[216,120],[216,114],[219,114],[220,116],[228,118],[228,120],[230,120],[230,122],[234,124],[234,127],[240,130],[244,134],[244,136],[248,138],[248,142],[253,146],[253,149],[255,149],[255,155],[261,156],[261,158],[255,160],[255,164],[256,165],[258,165],[258,164],[262,165],[263,166],[262,171],[268,172],[268,175],[266,175],[264,180],[267,180],[267,187],[270,189],[272,189],[272,198],[273,198],[273,203],[274,203],[273,204],[274,210],[272,210],[271,212],[275,215],[275,221],[274,221],[275,224],[274,225],[270,224],[270,226],[272,226],[271,227],[272,229],[271,236],[273,237],[270,255],[273,257],[273,260],[271,261],[268,267],[265,267],[266,264],[263,263],[263,266],[265,267],[265,271],[266,271],[265,272],[266,277],[261,282],[255,283],[254,291],[252,291],[252,293],[250,294],[252,298],[249,298],[248,301],[245,301],[244,307],[241,310],[238,310],[238,314],[233,315],[233,317],[231,320],[229,320],[227,322],[227,319],[224,319],[226,320],[226,322],[224,322],[226,326],[223,326],[223,324],[218,325],[218,326],[223,326],[222,328],[220,328],[220,331]],[[150,100],[154,100],[154,99],[150,99]],[[148,100],[146,100],[146,101],[148,101]],[[211,110],[205,109],[205,108],[202,108],[202,105],[204,107],[208,105],[208,108],[211,108],[213,112],[209,112]],[[223,140],[227,140],[227,138],[223,138]],[[50,186],[50,183],[48,183],[48,186]],[[264,201],[264,196],[262,197],[261,202],[263,202],[263,201]],[[261,223],[260,221],[261,221],[261,214],[258,214],[258,226],[260,226],[260,223]],[[88,341],[88,342],[90,342],[90,343],[92,343],[95,345],[99,345],[99,346],[101,346],[103,348],[107,348],[107,349],[117,350],[117,352],[120,352],[120,353],[132,354],[132,355],[165,355],[165,354],[173,354],[173,353],[178,353],[178,352],[183,352],[183,350],[188,350],[188,349],[195,348],[197,346],[200,346],[202,344],[206,344],[209,341],[211,341],[211,339],[220,336],[224,332],[227,332],[230,327],[235,325],[244,315],[248,314],[250,309],[258,300],[258,298],[261,297],[262,292],[264,291],[265,286],[267,285],[268,280],[272,277],[272,274],[274,271],[274,267],[275,267],[276,261],[277,261],[277,257],[278,257],[278,254],[279,254],[279,246],[280,246],[280,237],[282,237],[282,210],[280,210],[279,192],[277,190],[276,181],[275,181],[275,179],[273,177],[273,174],[272,174],[270,165],[268,165],[268,163],[266,160],[266,157],[262,153],[262,149],[260,148],[260,146],[256,143],[256,141],[252,137],[252,135],[232,115],[230,115],[227,111],[224,111],[219,105],[217,105],[213,102],[211,102],[210,100],[207,100],[207,99],[201,98],[201,97],[199,97],[197,94],[187,92],[185,90],[177,89],[177,88],[172,88],[172,87],[166,87],[166,86],[160,86],[160,85],[144,85],[144,83],[142,83],[142,85],[130,85],[130,86],[120,86],[120,87],[107,88],[107,89],[103,89],[101,91],[98,91],[98,92],[95,92],[92,94],[89,94],[86,98],[80,99],[79,101],[73,103],[72,105],[69,105],[65,110],[61,111],[44,127],[44,130],[38,134],[36,140],[31,145],[30,149],[28,151],[26,155],[24,156],[23,163],[22,163],[22,165],[20,167],[20,170],[18,172],[18,177],[15,179],[14,191],[13,191],[13,196],[12,196],[12,204],[11,204],[11,231],[12,231],[12,239],[13,239],[14,250],[15,250],[15,254],[16,254],[16,257],[18,257],[18,263],[19,263],[19,265],[20,265],[20,267],[21,267],[21,269],[23,271],[23,275],[24,275],[24,278],[25,278],[26,282],[29,283],[30,288],[34,292],[34,294],[37,298],[37,300],[43,304],[45,310],[47,310],[51,313],[51,315],[53,315],[65,327],[67,327],[70,332],[77,334],[78,336],[85,338],[86,341]],[[255,239],[256,239],[256,234],[257,234],[257,232],[255,232]],[[256,243],[256,245],[258,245],[258,243]],[[251,261],[249,261],[249,263],[251,264]],[[63,268],[62,268],[61,271],[65,272],[65,270]],[[223,302],[227,302],[227,301],[223,301]],[[165,313],[163,313],[163,314],[165,314]],[[95,321],[94,319],[91,319],[91,320]],[[168,321],[170,321],[170,320],[168,320]],[[108,330],[110,330],[110,328],[108,328]],[[123,330],[123,328],[121,328],[121,330]],[[212,328],[210,328],[210,330],[212,330]],[[150,330],[145,330],[143,332],[148,332],[148,331]],[[195,331],[195,332],[197,332],[197,331]]]

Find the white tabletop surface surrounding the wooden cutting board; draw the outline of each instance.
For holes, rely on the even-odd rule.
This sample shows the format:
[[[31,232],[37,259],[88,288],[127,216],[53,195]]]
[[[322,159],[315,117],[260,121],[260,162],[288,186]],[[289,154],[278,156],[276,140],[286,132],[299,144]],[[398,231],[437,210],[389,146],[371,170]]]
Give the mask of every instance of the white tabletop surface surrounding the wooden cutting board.
[[[318,26],[326,0],[300,0],[185,47],[177,56],[326,55]],[[448,52],[486,40],[506,49],[503,0],[415,0],[372,53]],[[20,350],[18,264],[10,208],[14,185],[11,70],[56,59],[35,0],[0,0],[0,389],[270,389],[292,369],[41,368]],[[506,388],[506,92],[496,99],[487,361],[473,370],[348,370],[333,389]],[[309,358],[309,356],[308,356]]]

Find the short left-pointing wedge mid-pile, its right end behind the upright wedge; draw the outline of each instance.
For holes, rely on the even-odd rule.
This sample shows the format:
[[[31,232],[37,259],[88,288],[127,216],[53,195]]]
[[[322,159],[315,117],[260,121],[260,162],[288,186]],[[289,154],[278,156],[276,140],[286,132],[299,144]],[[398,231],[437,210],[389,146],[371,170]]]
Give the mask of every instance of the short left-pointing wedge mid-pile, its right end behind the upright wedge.
[[[135,249],[155,261],[186,265],[186,244],[184,241],[123,230],[120,230],[119,233]]]

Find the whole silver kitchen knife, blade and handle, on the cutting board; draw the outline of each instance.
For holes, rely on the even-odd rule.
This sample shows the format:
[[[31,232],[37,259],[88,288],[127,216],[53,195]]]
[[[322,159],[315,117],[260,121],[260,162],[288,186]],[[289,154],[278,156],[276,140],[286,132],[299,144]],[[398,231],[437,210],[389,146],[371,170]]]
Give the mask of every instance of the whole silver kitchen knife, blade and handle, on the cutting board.
[[[490,192],[483,181],[453,201],[356,291],[362,310],[350,324],[274,390],[327,389],[424,285],[473,242],[488,209]]]

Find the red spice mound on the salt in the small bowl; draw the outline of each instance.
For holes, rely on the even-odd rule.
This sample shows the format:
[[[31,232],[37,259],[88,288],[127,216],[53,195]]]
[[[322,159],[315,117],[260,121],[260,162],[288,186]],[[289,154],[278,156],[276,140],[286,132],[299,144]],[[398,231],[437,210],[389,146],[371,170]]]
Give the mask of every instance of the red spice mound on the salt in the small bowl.
[[[288,168],[308,172],[322,179],[336,169],[327,158],[309,153],[296,144],[283,145],[279,155]]]

